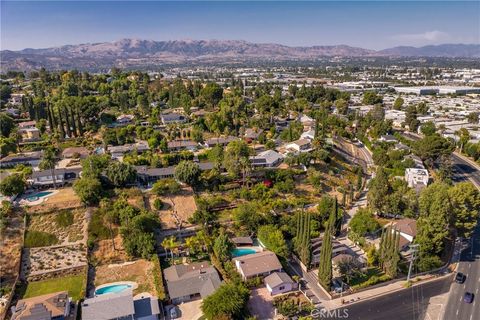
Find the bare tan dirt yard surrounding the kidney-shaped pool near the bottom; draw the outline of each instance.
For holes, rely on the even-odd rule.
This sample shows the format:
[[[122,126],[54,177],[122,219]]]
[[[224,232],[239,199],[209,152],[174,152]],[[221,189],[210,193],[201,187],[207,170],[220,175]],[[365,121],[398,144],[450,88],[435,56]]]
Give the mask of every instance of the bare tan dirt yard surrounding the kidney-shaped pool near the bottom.
[[[149,292],[156,295],[153,286],[153,265],[148,260],[137,260],[134,263],[97,266],[95,270],[95,286],[115,281],[134,281],[138,288],[134,294]]]

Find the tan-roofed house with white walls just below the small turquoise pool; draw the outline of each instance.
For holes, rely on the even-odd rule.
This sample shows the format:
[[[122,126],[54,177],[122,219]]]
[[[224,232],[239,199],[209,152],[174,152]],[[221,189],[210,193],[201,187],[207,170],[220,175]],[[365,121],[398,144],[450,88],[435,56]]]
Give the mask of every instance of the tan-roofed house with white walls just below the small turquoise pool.
[[[243,280],[265,277],[273,272],[281,272],[282,265],[275,253],[262,251],[232,259]]]

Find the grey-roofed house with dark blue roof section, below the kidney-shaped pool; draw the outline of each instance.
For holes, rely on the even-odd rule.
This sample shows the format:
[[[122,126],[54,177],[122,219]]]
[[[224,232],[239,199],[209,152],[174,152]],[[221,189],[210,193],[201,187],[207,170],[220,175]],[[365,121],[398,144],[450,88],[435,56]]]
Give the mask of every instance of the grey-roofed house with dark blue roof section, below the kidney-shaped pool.
[[[156,320],[160,314],[158,299],[136,296],[132,290],[99,295],[82,303],[82,320]]]

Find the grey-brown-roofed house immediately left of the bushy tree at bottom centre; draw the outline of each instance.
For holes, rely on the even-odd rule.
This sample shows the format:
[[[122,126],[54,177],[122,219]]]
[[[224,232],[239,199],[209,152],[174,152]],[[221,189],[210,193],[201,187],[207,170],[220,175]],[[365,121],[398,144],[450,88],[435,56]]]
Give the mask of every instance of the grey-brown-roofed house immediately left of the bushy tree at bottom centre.
[[[207,261],[173,265],[163,274],[174,304],[204,299],[222,284],[217,270]]]

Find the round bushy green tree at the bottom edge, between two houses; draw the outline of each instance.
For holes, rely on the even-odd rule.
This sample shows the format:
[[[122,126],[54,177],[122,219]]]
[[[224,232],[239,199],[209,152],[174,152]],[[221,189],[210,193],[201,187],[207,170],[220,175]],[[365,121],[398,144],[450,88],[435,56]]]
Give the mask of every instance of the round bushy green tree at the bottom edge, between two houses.
[[[202,301],[202,312],[208,320],[245,319],[250,290],[243,283],[224,283]]]

